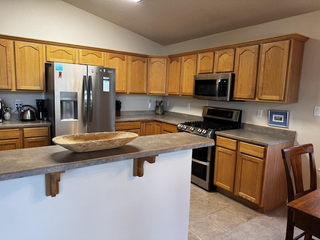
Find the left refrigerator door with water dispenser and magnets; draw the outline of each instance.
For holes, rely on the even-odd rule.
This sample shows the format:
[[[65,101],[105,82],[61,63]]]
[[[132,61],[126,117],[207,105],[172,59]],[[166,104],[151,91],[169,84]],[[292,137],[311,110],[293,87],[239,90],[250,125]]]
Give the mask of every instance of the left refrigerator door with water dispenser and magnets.
[[[86,65],[53,63],[55,136],[87,132],[83,121]]]

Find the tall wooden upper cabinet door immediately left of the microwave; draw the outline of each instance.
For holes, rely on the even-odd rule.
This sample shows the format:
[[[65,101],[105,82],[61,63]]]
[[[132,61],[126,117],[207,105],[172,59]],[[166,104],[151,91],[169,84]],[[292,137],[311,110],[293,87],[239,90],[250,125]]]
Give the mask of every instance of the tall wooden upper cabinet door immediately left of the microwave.
[[[196,54],[181,57],[180,95],[193,95],[193,81],[196,70]]]

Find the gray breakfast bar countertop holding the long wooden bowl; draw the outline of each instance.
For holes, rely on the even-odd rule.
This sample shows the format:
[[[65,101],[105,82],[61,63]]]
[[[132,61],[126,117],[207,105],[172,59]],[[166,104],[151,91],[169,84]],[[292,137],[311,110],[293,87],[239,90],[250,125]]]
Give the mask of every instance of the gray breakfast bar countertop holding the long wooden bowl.
[[[0,151],[0,180],[214,145],[187,132],[138,136],[117,148],[77,153],[58,145]]]

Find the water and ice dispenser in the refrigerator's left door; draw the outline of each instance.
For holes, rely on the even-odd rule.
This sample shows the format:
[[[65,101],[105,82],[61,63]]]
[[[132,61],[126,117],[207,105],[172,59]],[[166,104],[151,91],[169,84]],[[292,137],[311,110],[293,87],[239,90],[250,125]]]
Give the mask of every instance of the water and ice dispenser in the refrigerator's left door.
[[[77,92],[60,91],[61,120],[76,120],[78,118]]]

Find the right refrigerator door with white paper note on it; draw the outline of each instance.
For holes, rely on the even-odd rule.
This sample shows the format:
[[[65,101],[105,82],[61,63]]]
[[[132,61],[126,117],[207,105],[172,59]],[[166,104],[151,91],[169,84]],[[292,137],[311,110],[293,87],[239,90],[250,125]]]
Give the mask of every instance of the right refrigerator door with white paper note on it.
[[[88,65],[88,132],[115,130],[115,69]]]

